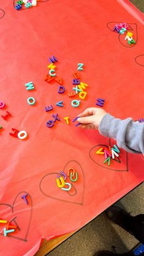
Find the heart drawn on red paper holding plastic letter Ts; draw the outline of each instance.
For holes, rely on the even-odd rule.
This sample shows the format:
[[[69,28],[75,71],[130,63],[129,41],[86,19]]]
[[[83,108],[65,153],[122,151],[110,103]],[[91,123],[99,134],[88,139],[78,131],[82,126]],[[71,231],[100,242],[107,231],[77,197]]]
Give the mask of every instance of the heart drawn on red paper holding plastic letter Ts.
[[[27,194],[27,202],[21,196]],[[32,219],[32,200],[27,192],[20,192],[13,201],[13,204],[0,203],[0,216],[1,219],[10,222],[11,225],[16,225],[17,229],[15,232],[8,233],[7,237],[15,238],[27,241],[27,236],[29,234],[29,228]],[[0,235],[4,236],[4,228],[7,224],[0,223]]]

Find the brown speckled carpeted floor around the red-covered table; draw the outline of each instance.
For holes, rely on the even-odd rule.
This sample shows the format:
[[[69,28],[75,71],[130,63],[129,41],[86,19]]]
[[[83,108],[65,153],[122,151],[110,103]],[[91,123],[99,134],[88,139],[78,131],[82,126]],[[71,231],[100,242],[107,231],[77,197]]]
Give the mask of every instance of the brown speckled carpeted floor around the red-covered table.
[[[144,0],[131,0],[131,2],[144,12]],[[143,199],[144,186],[142,184],[116,205],[132,212],[132,216],[135,216],[143,213]],[[138,243],[139,241],[131,234],[110,222],[103,213],[52,252],[49,252],[48,256],[93,256],[98,251],[112,251],[112,246],[116,247],[117,253],[122,254],[130,251]]]

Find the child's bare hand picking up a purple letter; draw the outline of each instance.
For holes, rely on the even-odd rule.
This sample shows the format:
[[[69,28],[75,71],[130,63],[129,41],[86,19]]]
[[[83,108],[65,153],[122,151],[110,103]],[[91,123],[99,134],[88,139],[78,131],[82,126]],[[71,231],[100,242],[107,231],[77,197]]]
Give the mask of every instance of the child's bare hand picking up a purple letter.
[[[87,108],[84,112],[77,115],[79,117],[77,121],[81,123],[79,126],[82,128],[98,129],[101,120],[106,114],[106,111],[101,108]]]

